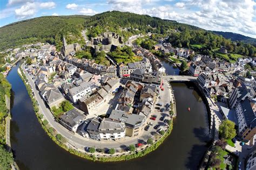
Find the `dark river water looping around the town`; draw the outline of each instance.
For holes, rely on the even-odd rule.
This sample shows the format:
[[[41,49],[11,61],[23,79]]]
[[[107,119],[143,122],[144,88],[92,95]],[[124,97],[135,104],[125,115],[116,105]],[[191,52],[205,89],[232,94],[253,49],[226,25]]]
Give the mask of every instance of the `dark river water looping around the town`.
[[[12,68],[7,79],[12,84],[11,145],[21,169],[197,169],[203,158],[208,143],[207,111],[197,90],[189,88],[193,84],[172,84],[177,117],[171,135],[156,151],[139,159],[103,163],[69,154],[47,136],[37,121],[17,68]]]

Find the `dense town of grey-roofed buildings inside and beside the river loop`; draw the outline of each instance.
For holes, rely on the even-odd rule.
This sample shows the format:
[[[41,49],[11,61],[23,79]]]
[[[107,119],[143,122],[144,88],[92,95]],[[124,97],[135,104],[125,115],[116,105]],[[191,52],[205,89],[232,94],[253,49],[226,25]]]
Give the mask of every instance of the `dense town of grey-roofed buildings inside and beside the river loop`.
[[[226,148],[238,156],[256,152],[242,152],[242,148],[252,148],[256,141],[256,72],[248,69],[255,68],[255,58],[239,58],[231,63],[173,47],[163,38],[149,50],[134,43],[139,37],[143,36],[124,42],[118,34],[105,32],[91,41],[85,40],[87,47],[96,52],[129,47],[140,61],[117,62],[109,53],[105,56],[110,65],[79,59],[77,54],[84,47],[67,44],[63,36],[59,52],[48,43],[8,49],[4,74],[17,60],[25,58],[19,72],[28,79],[43,120],[70,141],[69,147],[83,152],[90,148],[117,148],[118,141],[143,150],[152,139],[163,136],[179,114],[170,82],[185,81],[198,84],[205,95],[211,130],[219,130],[225,120],[235,124],[234,146]],[[227,54],[225,46],[219,51]],[[183,70],[185,76],[166,75],[159,57]],[[218,131],[214,133],[213,138],[218,140]],[[248,169],[253,166],[252,160],[247,161]]]

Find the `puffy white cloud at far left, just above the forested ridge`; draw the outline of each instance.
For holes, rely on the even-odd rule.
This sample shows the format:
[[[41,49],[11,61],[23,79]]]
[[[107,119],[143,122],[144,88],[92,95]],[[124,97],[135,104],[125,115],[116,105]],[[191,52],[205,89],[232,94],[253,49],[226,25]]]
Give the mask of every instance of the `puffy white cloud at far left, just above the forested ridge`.
[[[15,15],[17,19],[23,19],[35,15],[36,11],[36,3],[27,2],[21,8],[15,10]]]

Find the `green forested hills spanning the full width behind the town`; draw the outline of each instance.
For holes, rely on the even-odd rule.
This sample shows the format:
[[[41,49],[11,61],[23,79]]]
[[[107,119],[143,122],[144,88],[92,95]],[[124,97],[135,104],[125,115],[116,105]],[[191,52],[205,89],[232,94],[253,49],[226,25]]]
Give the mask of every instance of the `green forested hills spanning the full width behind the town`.
[[[83,45],[85,42],[81,31],[84,29],[87,29],[89,37],[96,37],[105,31],[113,31],[127,40],[133,34],[151,32],[157,33],[160,37],[169,36],[169,42],[178,47],[203,45],[205,50],[212,50],[226,46],[228,52],[249,56],[254,56],[256,51],[250,44],[233,43],[212,31],[196,26],[119,11],[107,11],[90,17],[78,15],[39,17],[3,26],[0,28],[0,51],[34,42],[49,42],[55,44],[59,50],[63,35],[68,44],[78,42]]]

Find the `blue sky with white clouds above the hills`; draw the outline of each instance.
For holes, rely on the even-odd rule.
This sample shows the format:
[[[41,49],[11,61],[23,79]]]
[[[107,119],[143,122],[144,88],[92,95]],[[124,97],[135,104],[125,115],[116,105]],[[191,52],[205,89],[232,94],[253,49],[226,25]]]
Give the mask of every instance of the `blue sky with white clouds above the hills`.
[[[256,38],[256,0],[0,0],[0,26],[40,16],[128,11]]]

